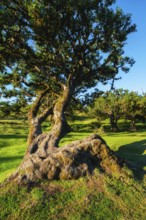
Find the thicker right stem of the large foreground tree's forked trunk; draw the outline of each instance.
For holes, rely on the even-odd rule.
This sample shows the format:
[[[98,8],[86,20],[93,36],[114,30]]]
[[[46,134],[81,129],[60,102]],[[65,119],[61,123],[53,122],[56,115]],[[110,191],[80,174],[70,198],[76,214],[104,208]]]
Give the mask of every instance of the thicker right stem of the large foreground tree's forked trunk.
[[[39,157],[46,158],[51,152],[55,151],[55,149],[58,147],[60,139],[71,130],[70,126],[67,124],[64,113],[69,103],[70,97],[71,88],[69,86],[64,86],[63,93],[56,101],[53,108],[54,125],[51,131],[47,134],[38,133],[34,141],[30,142],[31,144],[28,146],[28,156],[29,154],[37,153]],[[37,126],[39,126],[38,123]],[[37,131],[40,132],[39,129]]]

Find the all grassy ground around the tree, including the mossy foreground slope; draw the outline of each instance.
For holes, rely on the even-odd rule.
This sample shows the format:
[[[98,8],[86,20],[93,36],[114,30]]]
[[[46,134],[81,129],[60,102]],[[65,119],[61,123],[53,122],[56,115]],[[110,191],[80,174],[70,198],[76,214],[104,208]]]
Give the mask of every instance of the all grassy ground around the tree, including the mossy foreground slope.
[[[135,132],[111,133],[108,121],[101,136],[117,155],[129,161],[129,177],[119,180],[95,171],[70,181],[42,181],[34,186],[0,188],[0,219],[146,219],[146,126]],[[50,127],[43,124],[44,131]],[[98,132],[95,119],[79,116],[60,147]],[[15,171],[26,150],[27,123],[0,121],[0,182]],[[132,176],[133,175],[133,176]],[[131,177],[132,176],[132,177]]]

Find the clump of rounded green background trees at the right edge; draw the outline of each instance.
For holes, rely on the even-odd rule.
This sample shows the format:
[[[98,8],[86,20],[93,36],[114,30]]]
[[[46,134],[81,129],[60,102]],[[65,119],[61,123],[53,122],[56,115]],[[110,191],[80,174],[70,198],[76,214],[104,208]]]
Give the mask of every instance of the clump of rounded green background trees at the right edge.
[[[106,92],[94,100],[88,108],[88,114],[95,116],[99,125],[104,119],[109,119],[111,131],[118,131],[120,119],[130,121],[129,130],[136,130],[136,122],[145,122],[146,94],[117,89]]]

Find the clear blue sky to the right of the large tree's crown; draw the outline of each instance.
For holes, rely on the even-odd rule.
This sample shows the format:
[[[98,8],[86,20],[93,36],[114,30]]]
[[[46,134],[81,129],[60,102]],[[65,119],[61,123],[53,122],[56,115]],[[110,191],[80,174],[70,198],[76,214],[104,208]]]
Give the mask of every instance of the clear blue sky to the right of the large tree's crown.
[[[122,79],[116,81],[115,87],[146,92],[146,0],[117,0],[116,5],[132,15],[137,32],[129,35],[125,46],[125,54],[136,62],[127,74],[119,73]]]

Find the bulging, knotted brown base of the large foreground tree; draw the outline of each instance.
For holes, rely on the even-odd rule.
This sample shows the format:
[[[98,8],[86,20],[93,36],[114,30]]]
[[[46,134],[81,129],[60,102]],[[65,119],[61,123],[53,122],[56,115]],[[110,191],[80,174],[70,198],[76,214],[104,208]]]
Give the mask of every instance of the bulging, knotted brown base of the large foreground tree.
[[[61,148],[56,148],[46,158],[39,156],[39,149],[23,161],[11,178],[17,182],[68,180],[92,174],[95,168],[107,174],[119,173],[123,162],[98,135],[92,135]]]

